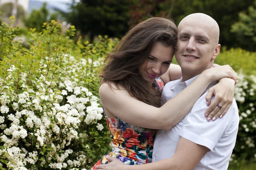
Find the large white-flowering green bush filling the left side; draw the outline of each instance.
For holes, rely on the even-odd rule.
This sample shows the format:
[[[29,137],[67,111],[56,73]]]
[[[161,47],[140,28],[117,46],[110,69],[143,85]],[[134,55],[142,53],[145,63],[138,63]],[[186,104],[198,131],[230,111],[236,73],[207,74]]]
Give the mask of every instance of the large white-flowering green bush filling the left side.
[[[108,152],[97,71],[114,42],[74,45],[74,31],[44,23],[25,48],[19,28],[0,26],[0,169],[90,168]]]

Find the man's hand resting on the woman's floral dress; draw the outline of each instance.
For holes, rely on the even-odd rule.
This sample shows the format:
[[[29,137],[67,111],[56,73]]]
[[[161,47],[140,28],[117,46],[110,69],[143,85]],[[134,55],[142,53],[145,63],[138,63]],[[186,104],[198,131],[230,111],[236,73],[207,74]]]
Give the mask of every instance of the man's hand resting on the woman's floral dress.
[[[126,167],[126,165],[122,161],[116,158],[113,158],[111,156],[106,156],[106,159],[110,163],[96,166],[97,170],[124,170]]]

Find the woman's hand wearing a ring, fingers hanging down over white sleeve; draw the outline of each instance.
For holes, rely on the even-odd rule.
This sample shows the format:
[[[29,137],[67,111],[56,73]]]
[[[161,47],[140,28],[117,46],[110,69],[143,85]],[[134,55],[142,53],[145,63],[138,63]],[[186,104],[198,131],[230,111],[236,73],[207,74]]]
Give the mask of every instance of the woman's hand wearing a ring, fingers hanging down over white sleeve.
[[[215,121],[218,117],[221,118],[227,113],[233,102],[234,88],[235,81],[230,78],[223,78],[217,85],[209,88],[205,97],[207,105],[210,104],[205,113],[205,117],[207,117],[208,122],[211,119]],[[211,102],[212,96],[215,97]]]

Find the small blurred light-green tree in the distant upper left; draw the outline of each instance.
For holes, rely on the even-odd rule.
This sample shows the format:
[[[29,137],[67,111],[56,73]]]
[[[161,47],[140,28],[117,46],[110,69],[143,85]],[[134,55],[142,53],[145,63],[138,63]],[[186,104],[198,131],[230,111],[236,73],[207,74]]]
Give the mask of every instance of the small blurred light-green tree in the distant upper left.
[[[47,4],[44,3],[39,10],[34,9],[29,14],[29,17],[23,20],[26,27],[36,28],[36,31],[40,32],[45,22],[49,22],[50,20],[57,20],[56,14],[49,15],[49,11],[46,5]]]

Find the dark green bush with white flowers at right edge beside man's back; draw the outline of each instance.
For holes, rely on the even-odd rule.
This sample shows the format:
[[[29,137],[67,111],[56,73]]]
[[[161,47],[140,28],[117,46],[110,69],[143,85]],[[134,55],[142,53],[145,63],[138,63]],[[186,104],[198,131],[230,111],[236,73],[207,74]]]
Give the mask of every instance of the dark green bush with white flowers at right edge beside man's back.
[[[238,159],[256,161],[256,76],[239,74],[235,87],[235,99],[239,108],[240,123],[236,146],[231,162],[239,163]]]

